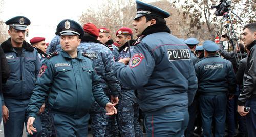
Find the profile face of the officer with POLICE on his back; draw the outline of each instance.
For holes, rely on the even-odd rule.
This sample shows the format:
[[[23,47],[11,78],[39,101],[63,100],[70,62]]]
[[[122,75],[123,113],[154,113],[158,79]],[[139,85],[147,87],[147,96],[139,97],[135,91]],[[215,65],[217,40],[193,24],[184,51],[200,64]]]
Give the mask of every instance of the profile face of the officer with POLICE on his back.
[[[151,21],[146,22],[145,16],[136,18],[133,21],[133,26],[135,29],[136,36],[139,37],[141,33],[150,25],[152,25],[152,22]]]

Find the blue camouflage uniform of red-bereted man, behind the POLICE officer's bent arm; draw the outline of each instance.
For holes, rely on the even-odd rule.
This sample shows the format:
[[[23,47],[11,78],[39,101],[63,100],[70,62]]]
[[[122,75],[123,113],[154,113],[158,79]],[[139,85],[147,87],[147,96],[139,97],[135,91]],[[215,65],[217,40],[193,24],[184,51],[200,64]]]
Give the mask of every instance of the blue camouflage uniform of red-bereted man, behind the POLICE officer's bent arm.
[[[130,51],[133,52],[133,40],[130,41]],[[129,57],[128,43],[126,42],[119,50],[117,61]],[[118,127],[121,136],[142,136],[142,131],[138,122],[139,107],[133,89],[121,85],[118,103]]]

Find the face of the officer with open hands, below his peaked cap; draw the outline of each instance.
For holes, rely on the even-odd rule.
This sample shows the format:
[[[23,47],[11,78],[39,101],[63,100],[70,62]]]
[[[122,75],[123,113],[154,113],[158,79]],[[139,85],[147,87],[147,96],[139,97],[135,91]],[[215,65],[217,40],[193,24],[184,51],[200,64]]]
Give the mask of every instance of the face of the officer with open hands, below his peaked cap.
[[[74,53],[80,44],[81,39],[77,35],[62,35],[60,36],[61,48],[67,53]]]

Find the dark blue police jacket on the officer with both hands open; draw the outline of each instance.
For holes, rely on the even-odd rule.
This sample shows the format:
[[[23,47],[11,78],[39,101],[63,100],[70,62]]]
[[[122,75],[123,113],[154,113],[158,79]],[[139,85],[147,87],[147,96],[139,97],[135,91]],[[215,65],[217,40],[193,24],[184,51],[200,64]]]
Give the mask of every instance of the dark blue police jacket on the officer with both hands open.
[[[71,58],[63,50],[45,60],[40,69],[28,107],[30,117],[38,114],[47,96],[53,113],[80,117],[88,113],[95,100],[102,107],[109,102],[92,61],[79,52]]]

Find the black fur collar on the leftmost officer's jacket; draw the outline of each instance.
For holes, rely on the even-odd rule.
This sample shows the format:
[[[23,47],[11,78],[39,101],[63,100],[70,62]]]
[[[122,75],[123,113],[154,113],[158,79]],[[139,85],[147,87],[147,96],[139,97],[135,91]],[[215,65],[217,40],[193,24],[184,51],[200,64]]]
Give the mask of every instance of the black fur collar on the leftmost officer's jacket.
[[[11,43],[11,38],[9,38],[8,40],[6,40],[5,42],[3,42],[1,44],[1,47],[3,48],[4,52],[12,52],[13,48],[12,48],[12,43]],[[26,42],[25,40],[23,41],[22,43],[22,47],[29,51],[29,52],[32,52],[34,51],[34,48],[28,43]]]

